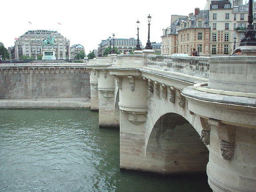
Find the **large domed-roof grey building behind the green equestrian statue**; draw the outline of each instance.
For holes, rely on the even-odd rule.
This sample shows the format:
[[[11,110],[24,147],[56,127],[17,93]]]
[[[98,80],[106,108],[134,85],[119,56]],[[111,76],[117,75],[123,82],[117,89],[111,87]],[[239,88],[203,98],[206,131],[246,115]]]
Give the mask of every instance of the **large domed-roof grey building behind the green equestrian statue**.
[[[33,30],[28,31],[24,35],[20,36],[13,47],[15,54],[12,55],[13,60],[20,60],[22,55],[33,56],[37,59],[37,56],[43,55],[42,42],[47,39],[47,36],[55,37],[54,49],[57,60],[70,59],[70,42],[57,31],[49,30]]]

